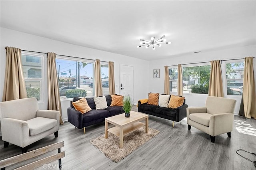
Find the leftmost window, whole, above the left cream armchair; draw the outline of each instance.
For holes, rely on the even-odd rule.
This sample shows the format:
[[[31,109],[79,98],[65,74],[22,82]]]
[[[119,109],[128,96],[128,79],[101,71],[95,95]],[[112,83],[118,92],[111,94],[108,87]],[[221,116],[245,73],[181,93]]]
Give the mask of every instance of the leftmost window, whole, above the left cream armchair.
[[[43,56],[22,53],[21,57],[27,95],[28,97],[36,97],[38,101],[43,102]]]

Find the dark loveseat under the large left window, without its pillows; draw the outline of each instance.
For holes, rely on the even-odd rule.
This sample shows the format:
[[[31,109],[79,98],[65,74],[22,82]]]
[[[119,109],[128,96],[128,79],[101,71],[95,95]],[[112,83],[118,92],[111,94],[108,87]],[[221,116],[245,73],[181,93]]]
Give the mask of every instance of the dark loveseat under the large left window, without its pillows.
[[[124,113],[122,106],[110,106],[111,105],[111,95],[106,95],[106,101],[108,107],[106,109],[96,110],[96,105],[94,103],[93,97],[86,98],[88,105],[92,109],[85,114],[82,114],[80,111],[77,111],[70,102],[70,107],[68,107],[68,122],[72,123],[75,127],[81,129],[96,123],[104,122],[105,118]],[[80,100],[80,97],[74,97],[73,101]]]

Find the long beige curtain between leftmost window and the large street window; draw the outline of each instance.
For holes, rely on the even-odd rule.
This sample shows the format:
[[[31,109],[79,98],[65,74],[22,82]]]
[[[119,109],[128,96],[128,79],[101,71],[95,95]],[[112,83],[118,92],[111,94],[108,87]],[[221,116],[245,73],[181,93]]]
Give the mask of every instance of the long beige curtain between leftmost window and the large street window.
[[[62,112],[60,105],[60,91],[56,70],[56,53],[47,53],[47,66],[48,66],[48,109],[60,111],[60,124],[62,121]]]

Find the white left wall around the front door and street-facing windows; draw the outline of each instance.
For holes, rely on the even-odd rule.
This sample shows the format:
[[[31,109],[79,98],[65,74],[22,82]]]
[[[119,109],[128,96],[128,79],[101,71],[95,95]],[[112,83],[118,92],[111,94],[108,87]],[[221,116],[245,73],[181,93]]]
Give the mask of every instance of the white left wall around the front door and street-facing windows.
[[[125,55],[119,55],[115,53],[109,53],[106,51],[100,51],[69,43],[59,42],[48,38],[34,36],[14,30],[1,28],[1,44],[0,44],[0,100],[2,101],[3,89],[4,89],[4,73],[6,63],[6,50],[4,47],[18,47],[23,50],[39,51],[39,52],[54,52],[60,55],[68,55],[74,57],[81,57],[87,59],[100,59],[102,61],[114,61],[114,76],[116,84],[116,93],[120,93],[119,82],[119,66],[130,65],[134,68],[134,101],[145,98],[148,94],[148,71],[149,61],[142,59],[136,59],[134,57],[128,57]],[[47,73],[46,67],[46,54],[45,56],[45,75]],[[46,76],[45,76],[46,77]],[[47,79],[45,79],[44,89],[44,103],[39,103],[40,109],[47,109]],[[67,120],[67,108],[70,106],[70,100],[61,102],[62,105],[62,118]]]

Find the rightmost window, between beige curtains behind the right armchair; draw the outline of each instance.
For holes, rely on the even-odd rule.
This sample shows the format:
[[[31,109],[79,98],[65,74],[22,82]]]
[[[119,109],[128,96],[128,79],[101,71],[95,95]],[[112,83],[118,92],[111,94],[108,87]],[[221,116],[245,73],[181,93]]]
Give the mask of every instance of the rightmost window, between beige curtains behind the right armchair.
[[[244,61],[226,63],[226,87],[228,95],[242,95],[244,82]]]

